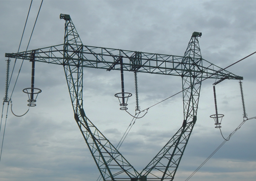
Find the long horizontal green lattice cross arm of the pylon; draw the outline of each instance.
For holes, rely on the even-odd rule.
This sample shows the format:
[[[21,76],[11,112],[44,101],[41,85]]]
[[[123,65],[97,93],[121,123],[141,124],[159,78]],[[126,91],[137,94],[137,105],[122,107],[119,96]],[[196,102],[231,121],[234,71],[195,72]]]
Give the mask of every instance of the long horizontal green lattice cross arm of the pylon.
[[[65,44],[60,44],[19,53],[6,53],[5,56],[63,66],[83,66],[106,70],[120,70],[120,66],[115,65],[119,64],[116,61],[119,57],[122,57],[124,71],[175,75],[181,77],[187,77],[193,74],[193,76],[198,75],[198,77],[200,76],[203,78],[243,79],[242,77],[221,69],[204,59],[202,59],[202,65],[196,65],[196,61],[194,63],[191,63],[191,61],[183,61],[183,59],[190,57],[85,46],[82,44],[79,46],[69,44],[69,49],[64,49],[64,45]],[[71,55],[68,57],[70,60],[67,60],[67,57],[64,57],[65,52],[68,52]],[[82,57],[77,58],[78,56],[76,55],[78,54],[82,55]],[[83,62],[82,65],[81,60]],[[194,65],[198,66],[197,70],[188,68]]]

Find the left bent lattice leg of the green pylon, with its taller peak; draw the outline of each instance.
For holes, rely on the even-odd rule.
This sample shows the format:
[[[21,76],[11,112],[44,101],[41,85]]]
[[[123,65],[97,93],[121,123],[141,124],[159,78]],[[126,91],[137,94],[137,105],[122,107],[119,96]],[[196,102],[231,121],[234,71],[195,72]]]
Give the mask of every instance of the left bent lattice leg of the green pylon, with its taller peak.
[[[67,61],[63,62],[63,66],[75,120],[102,179],[104,181],[131,181],[131,178],[137,178],[138,172],[85,115],[82,99],[82,80],[83,60],[86,57],[83,55],[83,45],[70,16],[61,14],[60,18],[66,20],[63,49],[64,60]],[[76,66],[71,66],[70,63],[75,63]]]

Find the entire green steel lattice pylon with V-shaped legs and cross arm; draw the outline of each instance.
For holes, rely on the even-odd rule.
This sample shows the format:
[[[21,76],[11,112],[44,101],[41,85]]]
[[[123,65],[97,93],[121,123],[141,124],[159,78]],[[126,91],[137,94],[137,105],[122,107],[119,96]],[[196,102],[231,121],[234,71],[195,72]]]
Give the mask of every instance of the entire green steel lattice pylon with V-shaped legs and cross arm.
[[[6,53],[6,57],[62,65],[73,105],[75,120],[93,156],[104,181],[172,181],[184,153],[192,129],[197,121],[198,100],[203,78],[243,78],[209,63],[201,57],[198,37],[194,32],[184,56],[163,55],[109,49],[82,44],[70,15],[65,20],[64,44],[19,53]],[[90,121],[83,109],[83,68],[119,70],[122,57],[123,71],[175,75],[182,78],[183,124],[168,143],[142,170],[135,168],[105,138]]]

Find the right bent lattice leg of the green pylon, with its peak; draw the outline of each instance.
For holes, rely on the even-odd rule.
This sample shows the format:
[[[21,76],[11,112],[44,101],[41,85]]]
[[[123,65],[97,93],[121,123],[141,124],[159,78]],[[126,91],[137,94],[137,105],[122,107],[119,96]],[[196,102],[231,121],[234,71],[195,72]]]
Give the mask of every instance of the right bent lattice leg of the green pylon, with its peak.
[[[180,129],[158,152],[153,160],[140,173],[148,180],[172,181],[197,120],[198,100],[201,89],[202,57],[198,43],[201,33],[194,32],[186,49],[183,64],[183,112],[184,120]],[[200,66],[198,66],[200,65]],[[185,71],[186,70],[186,71]],[[195,70],[193,72],[189,70]]]

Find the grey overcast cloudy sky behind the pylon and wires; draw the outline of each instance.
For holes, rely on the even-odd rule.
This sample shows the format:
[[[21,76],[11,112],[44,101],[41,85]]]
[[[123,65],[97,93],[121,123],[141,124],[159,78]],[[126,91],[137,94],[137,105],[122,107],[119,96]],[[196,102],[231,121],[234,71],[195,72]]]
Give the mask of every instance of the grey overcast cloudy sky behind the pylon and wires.
[[[5,53],[17,52],[30,0],[0,0],[0,95],[6,82]],[[26,50],[41,0],[34,0],[20,51]],[[70,14],[84,45],[183,56],[193,32],[202,57],[225,68],[256,51],[255,0],[44,0],[29,50],[64,42],[64,20]],[[256,55],[227,70],[243,76],[248,118],[256,116]],[[11,70],[14,65],[11,61]],[[9,95],[22,60],[17,60]],[[125,72],[125,91],[134,94],[134,78]],[[22,90],[30,87],[31,63],[24,61],[12,94],[12,110],[24,114],[28,106]],[[141,109],[179,92],[181,78],[138,74]],[[198,121],[177,170],[175,181],[189,175],[224,141],[209,118],[215,113],[212,83],[202,83]],[[23,117],[9,106],[1,181],[96,181],[96,164],[73,118],[63,67],[35,65],[35,87],[42,89],[37,106]],[[90,120],[117,145],[131,116],[119,110],[114,94],[121,91],[120,72],[84,69],[84,109]],[[238,80],[216,86],[218,112],[224,114],[227,137],[243,121]],[[6,117],[6,104],[0,141]],[[135,96],[128,101],[134,113]],[[183,120],[182,95],[168,99],[138,119],[120,152],[140,171],[179,129]],[[255,181],[256,120],[247,121],[190,181]]]

